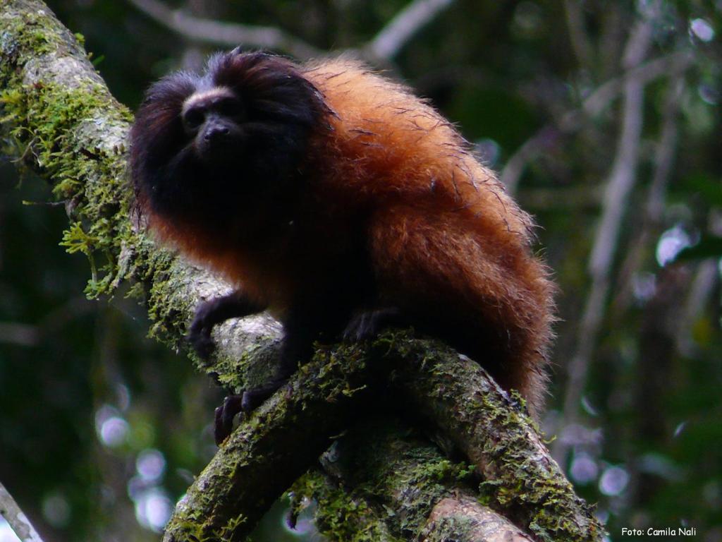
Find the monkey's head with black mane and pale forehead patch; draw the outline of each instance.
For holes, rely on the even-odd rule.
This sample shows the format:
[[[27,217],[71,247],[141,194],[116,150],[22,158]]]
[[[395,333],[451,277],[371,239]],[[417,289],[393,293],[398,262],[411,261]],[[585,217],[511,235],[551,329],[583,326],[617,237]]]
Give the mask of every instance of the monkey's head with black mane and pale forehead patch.
[[[232,227],[295,194],[310,133],[328,112],[290,61],[212,56],[204,74],[178,72],[148,90],[130,136],[136,196],[167,220]]]

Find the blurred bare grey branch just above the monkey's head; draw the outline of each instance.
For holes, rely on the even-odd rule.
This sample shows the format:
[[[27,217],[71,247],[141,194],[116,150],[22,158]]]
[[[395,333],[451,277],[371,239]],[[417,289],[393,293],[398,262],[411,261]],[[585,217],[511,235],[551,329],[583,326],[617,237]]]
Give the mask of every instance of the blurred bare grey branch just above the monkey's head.
[[[240,25],[193,17],[181,9],[170,9],[158,0],[128,0],[156,22],[194,41],[224,47],[238,45],[284,51],[299,59],[319,56],[322,51],[276,27]]]

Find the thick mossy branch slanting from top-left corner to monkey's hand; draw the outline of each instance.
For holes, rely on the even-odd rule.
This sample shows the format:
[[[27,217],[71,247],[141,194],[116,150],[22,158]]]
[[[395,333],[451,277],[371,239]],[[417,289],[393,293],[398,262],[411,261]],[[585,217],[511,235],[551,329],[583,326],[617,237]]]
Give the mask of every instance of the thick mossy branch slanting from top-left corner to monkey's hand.
[[[88,258],[87,296],[123,291],[139,298],[150,335],[183,346],[199,298],[228,286],[157,247],[131,220],[126,138],[132,115],[110,94],[77,36],[41,1],[2,0],[0,6],[0,152],[45,178],[65,203],[70,225],[61,244]],[[254,330],[225,340],[221,367],[204,369],[234,369],[235,381],[243,380],[238,356],[223,352],[244,350],[277,328],[266,319]]]

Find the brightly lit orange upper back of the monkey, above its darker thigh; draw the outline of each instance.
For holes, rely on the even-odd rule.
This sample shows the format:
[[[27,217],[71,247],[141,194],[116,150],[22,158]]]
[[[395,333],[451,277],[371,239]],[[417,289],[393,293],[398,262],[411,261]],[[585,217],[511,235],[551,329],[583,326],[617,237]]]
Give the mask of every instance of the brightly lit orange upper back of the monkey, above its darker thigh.
[[[495,173],[471,155],[454,126],[424,100],[349,59],[309,66],[305,76],[335,113],[322,152],[329,152],[329,142],[336,150],[336,171],[326,173],[344,190],[359,197],[445,200],[450,207],[463,206],[505,223],[529,241],[529,215],[508,197]]]

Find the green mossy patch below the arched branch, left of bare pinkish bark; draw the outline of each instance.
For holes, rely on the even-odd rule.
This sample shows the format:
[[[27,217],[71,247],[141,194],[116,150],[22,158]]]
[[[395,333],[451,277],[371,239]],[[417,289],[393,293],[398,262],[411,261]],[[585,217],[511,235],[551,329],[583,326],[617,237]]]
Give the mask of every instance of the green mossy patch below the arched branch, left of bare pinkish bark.
[[[294,486],[297,494],[316,499],[319,526],[331,540],[376,540],[370,528],[349,538],[349,523],[365,520],[375,527],[368,517],[386,520],[388,536],[417,540],[435,504],[473,487],[473,468],[448,459],[418,431],[390,417],[394,407],[376,405],[376,415],[357,423],[323,455],[330,475],[324,483],[310,473]]]

